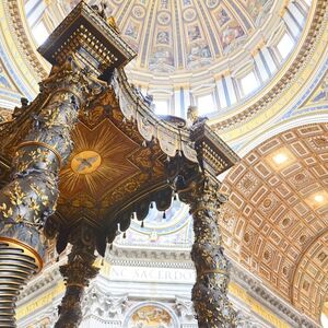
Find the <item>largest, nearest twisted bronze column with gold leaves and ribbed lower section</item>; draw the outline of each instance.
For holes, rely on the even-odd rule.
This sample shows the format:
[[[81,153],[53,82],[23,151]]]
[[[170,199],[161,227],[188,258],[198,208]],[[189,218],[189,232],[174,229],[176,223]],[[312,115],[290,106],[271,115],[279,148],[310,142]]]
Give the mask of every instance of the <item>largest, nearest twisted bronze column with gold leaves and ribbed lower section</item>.
[[[42,269],[45,246],[39,229],[56,209],[59,169],[72,149],[70,132],[79,108],[101,91],[102,85],[70,58],[52,68],[33,108],[25,108],[34,124],[16,148],[13,180],[0,191],[0,327],[16,327],[20,290]]]

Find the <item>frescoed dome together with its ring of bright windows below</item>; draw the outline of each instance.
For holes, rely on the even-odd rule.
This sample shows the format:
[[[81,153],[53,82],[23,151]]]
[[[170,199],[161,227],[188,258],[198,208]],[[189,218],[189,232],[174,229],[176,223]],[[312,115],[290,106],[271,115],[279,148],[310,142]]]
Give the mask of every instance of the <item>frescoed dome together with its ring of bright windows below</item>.
[[[196,104],[204,115],[223,117],[254,98],[291,61],[315,11],[311,0],[104,2],[106,14],[138,52],[127,67],[129,81],[153,94],[159,114],[177,116]],[[50,33],[77,3],[27,1],[35,42],[42,44],[42,34]]]

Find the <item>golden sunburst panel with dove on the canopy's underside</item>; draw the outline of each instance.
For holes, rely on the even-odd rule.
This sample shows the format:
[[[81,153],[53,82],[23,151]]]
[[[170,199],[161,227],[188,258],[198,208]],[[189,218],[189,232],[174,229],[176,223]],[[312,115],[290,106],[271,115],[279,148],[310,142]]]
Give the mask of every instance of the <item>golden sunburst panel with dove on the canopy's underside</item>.
[[[139,145],[108,119],[93,129],[79,122],[72,140],[74,152],[60,172],[61,196],[71,198],[82,192],[101,199],[139,172],[129,160]]]

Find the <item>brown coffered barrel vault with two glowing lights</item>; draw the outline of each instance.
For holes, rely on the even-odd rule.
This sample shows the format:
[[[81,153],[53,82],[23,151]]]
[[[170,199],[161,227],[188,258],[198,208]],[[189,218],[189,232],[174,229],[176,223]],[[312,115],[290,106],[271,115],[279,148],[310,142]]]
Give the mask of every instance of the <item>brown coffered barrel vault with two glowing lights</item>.
[[[328,291],[328,124],[282,132],[224,179],[226,251],[319,319]]]

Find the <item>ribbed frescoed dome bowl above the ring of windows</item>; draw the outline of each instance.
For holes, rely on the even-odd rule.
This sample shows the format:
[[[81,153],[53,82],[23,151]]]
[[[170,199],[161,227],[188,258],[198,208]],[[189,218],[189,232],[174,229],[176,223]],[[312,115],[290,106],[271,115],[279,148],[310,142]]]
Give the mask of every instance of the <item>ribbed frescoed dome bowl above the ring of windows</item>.
[[[79,3],[63,2],[68,11]],[[89,1],[95,2],[98,1]],[[173,72],[198,69],[242,49],[267,21],[273,2],[115,0],[108,2],[106,11],[115,16],[122,36],[138,51],[138,67]]]

